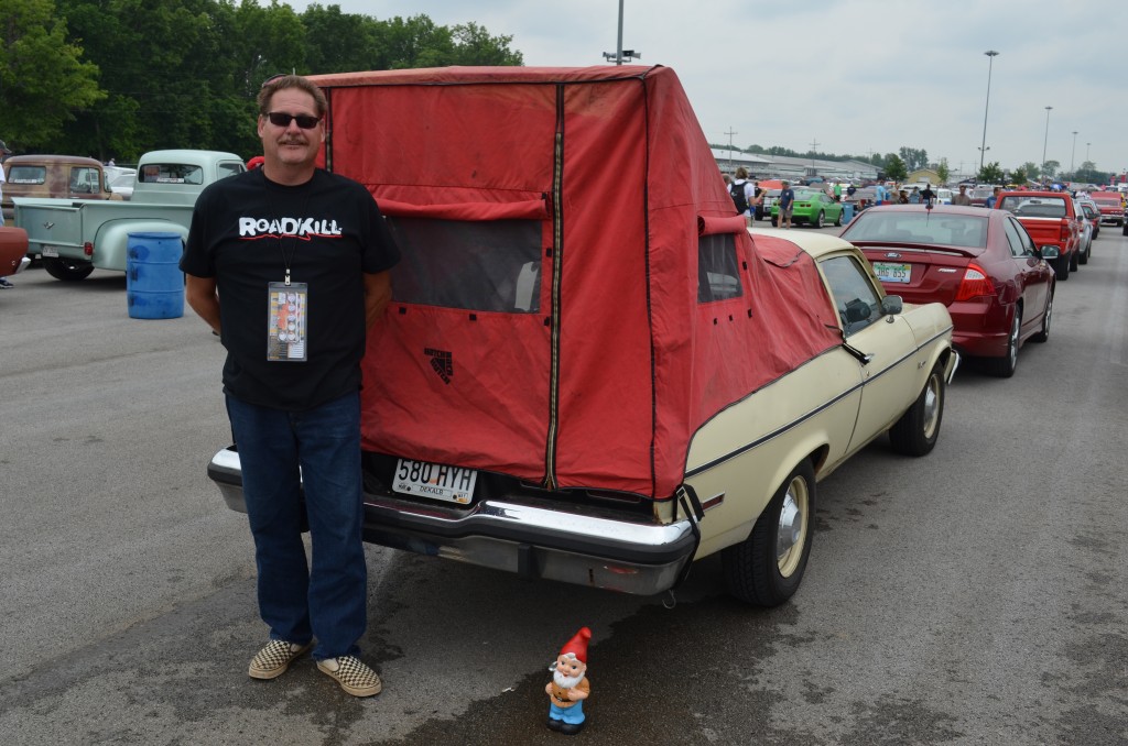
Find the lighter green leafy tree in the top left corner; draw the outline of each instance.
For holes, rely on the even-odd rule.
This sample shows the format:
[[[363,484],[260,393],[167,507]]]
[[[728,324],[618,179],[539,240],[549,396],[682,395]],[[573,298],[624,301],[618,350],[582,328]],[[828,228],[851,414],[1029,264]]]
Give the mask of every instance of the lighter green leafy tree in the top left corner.
[[[8,146],[50,149],[77,113],[105,98],[54,0],[0,6],[0,113]]]

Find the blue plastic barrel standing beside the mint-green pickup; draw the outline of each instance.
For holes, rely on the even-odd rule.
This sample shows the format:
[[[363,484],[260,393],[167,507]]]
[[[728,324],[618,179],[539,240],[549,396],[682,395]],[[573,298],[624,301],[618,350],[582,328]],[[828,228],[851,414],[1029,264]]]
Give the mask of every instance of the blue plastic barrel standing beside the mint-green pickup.
[[[125,243],[125,300],[131,319],[184,316],[178,233],[130,233]]]

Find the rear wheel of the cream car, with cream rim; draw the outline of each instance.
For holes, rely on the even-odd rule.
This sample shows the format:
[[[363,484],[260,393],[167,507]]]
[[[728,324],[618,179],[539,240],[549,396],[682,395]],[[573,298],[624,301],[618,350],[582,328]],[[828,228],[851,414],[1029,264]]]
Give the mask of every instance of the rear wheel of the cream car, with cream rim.
[[[721,552],[729,593],[756,606],[778,606],[795,595],[811,556],[814,492],[814,469],[804,459],[776,490],[748,539]],[[781,521],[792,526],[783,536]]]

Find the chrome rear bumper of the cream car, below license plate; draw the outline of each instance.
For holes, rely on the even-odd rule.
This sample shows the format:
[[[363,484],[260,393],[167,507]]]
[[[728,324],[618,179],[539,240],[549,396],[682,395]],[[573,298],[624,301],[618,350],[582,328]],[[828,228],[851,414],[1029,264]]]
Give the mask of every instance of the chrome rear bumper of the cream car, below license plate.
[[[217,453],[208,476],[229,508],[246,513],[236,452]],[[526,499],[447,508],[371,492],[364,494],[364,541],[634,595],[673,587],[697,550],[688,519],[659,524]]]

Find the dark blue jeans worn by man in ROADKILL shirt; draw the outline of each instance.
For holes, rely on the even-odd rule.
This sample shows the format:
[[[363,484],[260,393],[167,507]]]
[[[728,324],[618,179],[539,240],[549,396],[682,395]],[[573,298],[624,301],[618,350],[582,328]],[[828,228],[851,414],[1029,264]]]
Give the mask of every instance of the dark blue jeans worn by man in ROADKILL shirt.
[[[227,411],[255,539],[258,613],[271,638],[305,645],[316,637],[318,660],[356,655],[368,601],[360,394],[309,411],[268,409],[228,394]],[[302,485],[310,567],[301,539]]]

